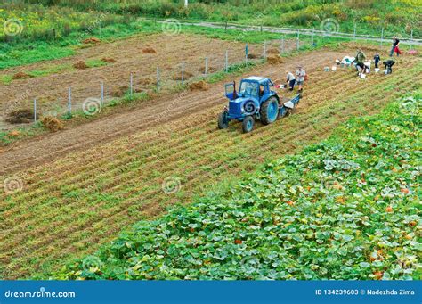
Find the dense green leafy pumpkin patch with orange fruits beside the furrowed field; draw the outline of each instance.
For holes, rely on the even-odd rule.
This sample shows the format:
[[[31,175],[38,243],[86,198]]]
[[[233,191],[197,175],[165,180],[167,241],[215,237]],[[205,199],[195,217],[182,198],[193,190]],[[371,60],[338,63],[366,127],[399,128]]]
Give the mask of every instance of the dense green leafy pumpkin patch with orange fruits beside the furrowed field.
[[[232,190],[138,223],[55,277],[420,279],[416,105],[351,119]]]

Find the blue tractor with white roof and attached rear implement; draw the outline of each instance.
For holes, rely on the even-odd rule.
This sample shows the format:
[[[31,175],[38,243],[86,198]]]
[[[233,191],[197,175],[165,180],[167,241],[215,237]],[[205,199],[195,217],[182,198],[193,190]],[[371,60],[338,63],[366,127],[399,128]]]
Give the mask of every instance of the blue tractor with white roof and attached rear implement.
[[[231,120],[242,122],[244,133],[252,131],[255,119],[264,125],[271,124],[279,117],[288,116],[299,103],[300,95],[286,103],[280,104],[279,95],[270,89],[272,81],[263,77],[248,77],[240,81],[239,92],[236,84],[225,85],[225,95],[229,99],[229,107],[218,115],[218,128],[229,127]]]

